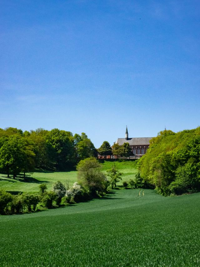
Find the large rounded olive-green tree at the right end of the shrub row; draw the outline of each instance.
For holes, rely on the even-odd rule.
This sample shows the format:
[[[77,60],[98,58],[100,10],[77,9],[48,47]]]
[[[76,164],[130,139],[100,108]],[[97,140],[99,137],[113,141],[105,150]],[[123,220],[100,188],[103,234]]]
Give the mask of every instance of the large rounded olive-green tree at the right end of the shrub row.
[[[108,183],[105,174],[101,171],[101,164],[97,159],[90,157],[81,160],[77,165],[78,181],[83,187],[89,190],[93,196],[104,192],[107,189]]]

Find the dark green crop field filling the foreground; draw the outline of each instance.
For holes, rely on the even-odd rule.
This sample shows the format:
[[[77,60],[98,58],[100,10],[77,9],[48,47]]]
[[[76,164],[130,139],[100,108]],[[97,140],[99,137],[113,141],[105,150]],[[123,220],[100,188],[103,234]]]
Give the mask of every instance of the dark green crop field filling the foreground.
[[[198,266],[200,193],[138,192],[0,216],[0,266]]]

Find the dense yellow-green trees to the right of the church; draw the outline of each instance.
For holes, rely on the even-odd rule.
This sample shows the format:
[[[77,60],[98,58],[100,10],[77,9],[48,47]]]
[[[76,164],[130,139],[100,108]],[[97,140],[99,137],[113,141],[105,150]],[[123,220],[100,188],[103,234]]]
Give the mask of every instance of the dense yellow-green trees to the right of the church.
[[[163,195],[200,190],[200,127],[174,133],[164,130],[150,141],[139,161],[138,176]]]

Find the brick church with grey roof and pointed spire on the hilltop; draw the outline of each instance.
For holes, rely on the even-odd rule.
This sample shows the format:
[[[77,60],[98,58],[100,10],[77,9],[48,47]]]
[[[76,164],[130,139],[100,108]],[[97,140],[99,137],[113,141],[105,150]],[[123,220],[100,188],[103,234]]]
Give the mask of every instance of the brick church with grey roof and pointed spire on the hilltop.
[[[129,143],[133,154],[141,157],[142,155],[144,155],[147,152],[147,149],[149,147],[149,141],[152,138],[153,137],[129,138],[128,137],[128,129],[126,127],[125,138],[118,138],[115,143],[119,144],[120,146],[122,146],[124,143]]]

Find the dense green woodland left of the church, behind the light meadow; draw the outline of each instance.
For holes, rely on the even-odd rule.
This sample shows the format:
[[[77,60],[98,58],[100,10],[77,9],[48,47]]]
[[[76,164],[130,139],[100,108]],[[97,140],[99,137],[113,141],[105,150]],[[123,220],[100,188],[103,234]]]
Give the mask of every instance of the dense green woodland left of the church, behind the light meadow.
[[[24,131],[0,129],[0,169],[15,178],[20,172],[38,169],[67,170],[80,160],[96,155],[96,149],[85,133],[38,128]]]

